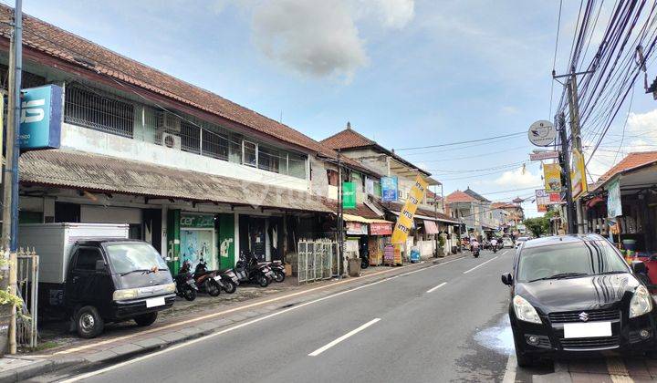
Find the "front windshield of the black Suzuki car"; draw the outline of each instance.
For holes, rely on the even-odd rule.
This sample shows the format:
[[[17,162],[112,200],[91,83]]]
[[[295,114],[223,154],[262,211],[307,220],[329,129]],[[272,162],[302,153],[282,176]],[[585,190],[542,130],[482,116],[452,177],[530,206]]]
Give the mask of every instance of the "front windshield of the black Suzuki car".
[[[628,273],[625,261],[605,240],[554,244],[522,250],[518,282],[591,274]]]

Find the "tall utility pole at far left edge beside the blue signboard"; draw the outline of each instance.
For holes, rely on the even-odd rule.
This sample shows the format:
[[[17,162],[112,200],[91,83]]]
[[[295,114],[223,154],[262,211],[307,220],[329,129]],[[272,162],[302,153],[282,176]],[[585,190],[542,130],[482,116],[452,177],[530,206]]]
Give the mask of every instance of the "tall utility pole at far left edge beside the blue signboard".
[[[14,9],[14,33],[9,52],[9,105],[6,125],[5,185],[3,200],[2,247],[12,253],[9,264],[8,287],[16,295],[16,248],[18,245],[18,158],[20,147],[21,78],[23,67],[23,3],[16,0]],[[5,279],[6,280],[5,275]],[[16,354],[16,306],[11,307],[9,319],[9,353]]]

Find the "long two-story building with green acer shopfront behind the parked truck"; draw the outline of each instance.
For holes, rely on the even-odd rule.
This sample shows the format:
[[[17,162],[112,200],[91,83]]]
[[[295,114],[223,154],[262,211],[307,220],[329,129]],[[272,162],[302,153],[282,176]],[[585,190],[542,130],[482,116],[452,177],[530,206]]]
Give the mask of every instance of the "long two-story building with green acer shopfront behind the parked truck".
[[[23,26],[23,88],[61,87],[63,107],[60,145],[21,155],[21,223],[128,223],[174,273],[201,257],[232,267],[241,251],[281,259],[324,235],[335,150],[35,17]],[[0,26],[3,79],[10,34]]]

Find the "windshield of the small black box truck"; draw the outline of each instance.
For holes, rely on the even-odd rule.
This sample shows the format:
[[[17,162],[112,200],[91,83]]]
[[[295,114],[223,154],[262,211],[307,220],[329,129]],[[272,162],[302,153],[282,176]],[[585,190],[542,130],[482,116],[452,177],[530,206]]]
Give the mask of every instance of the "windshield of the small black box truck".
[[[167,270],[162,256],[149,243],[116,243],[105,246],[110,255],[114,273],[150,271],[153,268]]]

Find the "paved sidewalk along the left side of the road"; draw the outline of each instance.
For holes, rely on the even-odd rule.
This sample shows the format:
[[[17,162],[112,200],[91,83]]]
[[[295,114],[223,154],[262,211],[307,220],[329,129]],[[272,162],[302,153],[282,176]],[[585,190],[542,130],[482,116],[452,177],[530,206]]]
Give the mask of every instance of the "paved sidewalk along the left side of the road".
[[[67,367],[93,367],[169,347],[196,337],[224,330],[227,326],[246,323],[259,316],[276,312],[322,296],[344,291],[357,285],[367,285],[463,257],[456,254],[421,264],[401,267],[369,267],[358,278],[332,279],[308,285],[297,285],[296,278],[267,288],[240,286],[234,295],[218,297],[199,295],[193,302],[176,300],[170,310],[149,327],[126,322],[106,326],[102,336],[81,339],[68,333],[68,322],[46,326],[41,342],[55,344],[37,353],[0,358],[0,382],[20,381]]]

